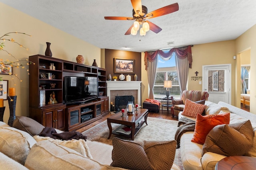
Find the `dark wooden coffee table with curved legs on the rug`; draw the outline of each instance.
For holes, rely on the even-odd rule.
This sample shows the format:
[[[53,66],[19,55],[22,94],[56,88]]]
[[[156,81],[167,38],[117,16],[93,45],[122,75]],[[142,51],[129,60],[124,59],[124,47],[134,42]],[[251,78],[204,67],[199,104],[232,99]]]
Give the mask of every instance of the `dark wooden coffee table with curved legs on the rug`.
[[[146,123],[146,125],[148,125],[148,123],[147,123],[148,109],[139,108],[138,111],[134,110],[134,114],[132,114],[132,115],[128,115],[127,110],[125,109],[124,117],[121,117],[121,116],[122,116],[122,112],[120,111],[120,112],[108,117],[108,119],[107,119],[108,129],[109,129],[108,139],[110,139],[111,134],[125,135],[123,133],[116,132],[116,131],[118,131],[118,129],[124,127],[124,125],[125,125],[128,127],[131,127],[131,134],[125,135],[125,136],[131,137],[132,140],[134,140],[134,136],[138,133],[138,131],[140,130],[142,125],[144,123]],[[142,120],[142,118],[144,118],[144,120]],[[112,131],[111,123],[117,123],[117,124],[120,124],[120,126],[117,129],[115,129],[114,131]]]

